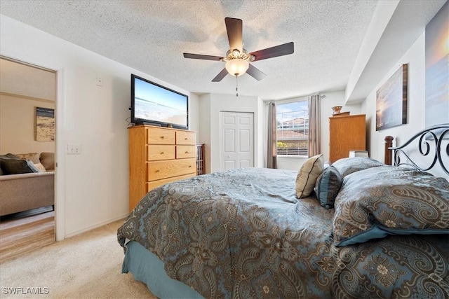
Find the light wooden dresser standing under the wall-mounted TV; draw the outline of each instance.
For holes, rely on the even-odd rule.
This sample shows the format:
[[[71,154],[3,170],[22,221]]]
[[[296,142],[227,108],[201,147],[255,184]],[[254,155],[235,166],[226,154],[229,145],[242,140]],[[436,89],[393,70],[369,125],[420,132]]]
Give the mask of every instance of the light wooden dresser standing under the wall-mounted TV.
[[[149,190],[196,175],[196,132],[138,125],[128,137],[130,211]]]

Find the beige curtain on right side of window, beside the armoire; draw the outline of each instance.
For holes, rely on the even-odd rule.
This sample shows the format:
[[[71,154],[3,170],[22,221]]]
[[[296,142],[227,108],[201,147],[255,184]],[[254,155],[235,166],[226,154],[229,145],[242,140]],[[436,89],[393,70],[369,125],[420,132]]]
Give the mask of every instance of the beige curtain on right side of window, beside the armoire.
[[[309,157],[321,153],[320,102],[320,95],[312,95],[309,97]]]

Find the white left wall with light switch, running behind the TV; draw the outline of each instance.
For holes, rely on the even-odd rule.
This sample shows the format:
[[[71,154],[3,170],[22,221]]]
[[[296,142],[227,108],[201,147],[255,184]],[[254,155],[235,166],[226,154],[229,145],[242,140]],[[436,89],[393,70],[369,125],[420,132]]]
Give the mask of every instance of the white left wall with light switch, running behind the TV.
[[[197,132],[198,97],[4,15],[0,25],[0,55],[58,71],[57,239],[126,216],[130,74],[189,95],[189,125]],[[80,144],[81,155],[67,155],[67,144]]]

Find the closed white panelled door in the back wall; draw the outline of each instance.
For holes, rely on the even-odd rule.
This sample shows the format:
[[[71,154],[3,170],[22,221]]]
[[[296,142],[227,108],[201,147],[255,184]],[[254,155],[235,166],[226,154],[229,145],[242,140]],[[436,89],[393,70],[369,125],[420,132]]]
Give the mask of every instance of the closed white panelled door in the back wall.
[[[254,113],[220,111],[220,171],[254,167]]]

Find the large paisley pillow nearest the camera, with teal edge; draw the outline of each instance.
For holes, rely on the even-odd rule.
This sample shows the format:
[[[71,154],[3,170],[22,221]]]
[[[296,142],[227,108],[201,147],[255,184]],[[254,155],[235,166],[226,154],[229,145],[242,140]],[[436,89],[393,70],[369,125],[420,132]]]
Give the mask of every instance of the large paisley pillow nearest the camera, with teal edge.
[[[335,199],[333,230],[337,246],[387,235],[447,234],[449,182],[394,166],[350,174]]]

